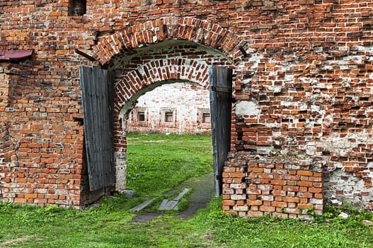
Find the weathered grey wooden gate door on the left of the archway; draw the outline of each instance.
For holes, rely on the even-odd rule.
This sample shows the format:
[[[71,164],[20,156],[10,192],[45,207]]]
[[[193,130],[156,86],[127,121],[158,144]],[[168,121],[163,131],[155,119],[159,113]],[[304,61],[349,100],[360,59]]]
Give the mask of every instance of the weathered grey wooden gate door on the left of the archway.
[[[89,188],[115,184],[113,79],[109,71],[80,67]]]

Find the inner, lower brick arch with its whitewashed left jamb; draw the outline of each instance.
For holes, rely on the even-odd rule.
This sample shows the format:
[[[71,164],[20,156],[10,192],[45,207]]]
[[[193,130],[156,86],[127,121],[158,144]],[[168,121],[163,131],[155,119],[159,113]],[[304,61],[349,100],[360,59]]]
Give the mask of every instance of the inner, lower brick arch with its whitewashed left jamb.
[[[222,64],[230,65],[225,58]],[[219,61],[215,61],[219,64]],[[205,89],[209,86],[208,64],[204,60],[187,57],[168,57],[139,64],[136,68],[116,75],[115,81],[115,165],[117,171],[117,191],[125,189],[126,177],[126,130],[127,113],[134,107],[139,96],[156,86],[177,81],[188,81]]]

